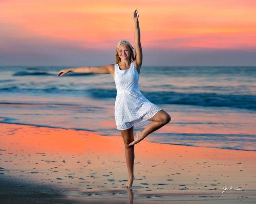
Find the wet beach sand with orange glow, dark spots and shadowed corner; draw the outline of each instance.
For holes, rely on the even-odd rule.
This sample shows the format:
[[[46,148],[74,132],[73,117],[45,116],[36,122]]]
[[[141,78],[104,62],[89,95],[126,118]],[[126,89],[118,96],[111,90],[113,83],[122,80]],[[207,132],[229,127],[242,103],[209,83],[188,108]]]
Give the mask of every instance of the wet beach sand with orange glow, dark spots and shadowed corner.
[[[0,203],[256,202],[255,151],[145,139],[125,189],[121,136],[8,123],[0,130]]]

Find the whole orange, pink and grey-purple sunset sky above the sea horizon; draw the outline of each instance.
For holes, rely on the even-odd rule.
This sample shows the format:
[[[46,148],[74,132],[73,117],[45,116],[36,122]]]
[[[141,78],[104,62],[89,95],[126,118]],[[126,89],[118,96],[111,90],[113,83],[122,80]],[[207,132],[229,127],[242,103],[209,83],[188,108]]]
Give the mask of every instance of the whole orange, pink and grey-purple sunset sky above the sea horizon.
[[[113,64],[135,9],[144,66],[256,65],[255,0],[1,0],[0,65]]]

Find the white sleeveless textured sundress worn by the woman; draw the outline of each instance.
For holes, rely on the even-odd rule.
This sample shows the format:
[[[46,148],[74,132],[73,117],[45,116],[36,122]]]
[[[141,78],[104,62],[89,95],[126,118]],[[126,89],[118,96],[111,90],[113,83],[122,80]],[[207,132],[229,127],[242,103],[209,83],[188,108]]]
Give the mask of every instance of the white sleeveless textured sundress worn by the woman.
[[[151,103],[139,90],[139,73],[134,63],[129,69],[121,70],[115,64],[114,80],[116,84],[115,121],[117,130],[127,130],[130,127],[138,129],[148,125],[162,108]]]

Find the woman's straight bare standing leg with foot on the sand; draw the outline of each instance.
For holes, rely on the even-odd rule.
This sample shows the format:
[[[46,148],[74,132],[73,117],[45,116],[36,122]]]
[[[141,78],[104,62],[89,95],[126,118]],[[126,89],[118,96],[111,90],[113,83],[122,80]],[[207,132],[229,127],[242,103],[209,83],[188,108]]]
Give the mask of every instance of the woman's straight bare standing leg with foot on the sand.
[[[123,137],[124,142],[124,151],[125,151],[125,159],[127,170],[129,173],[129,180],[126,184],[126,188],[132,187],[134,178],[134,146],[129,146],[129,144],[134,141],[133,136],[133,126],[130,129],[120,131]]]

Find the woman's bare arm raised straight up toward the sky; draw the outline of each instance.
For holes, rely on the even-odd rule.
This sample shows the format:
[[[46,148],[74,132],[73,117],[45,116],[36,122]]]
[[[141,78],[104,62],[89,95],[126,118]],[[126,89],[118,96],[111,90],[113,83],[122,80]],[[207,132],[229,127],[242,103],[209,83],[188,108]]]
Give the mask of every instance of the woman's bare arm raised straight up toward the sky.
[[[139,15],[137,9],[134,11],[134,23],[135,23],[135,62],[137,65],[137,68],[140,70],[140,67],[142,65],[142,47],[140,42],[140,25],[139,25]]]

